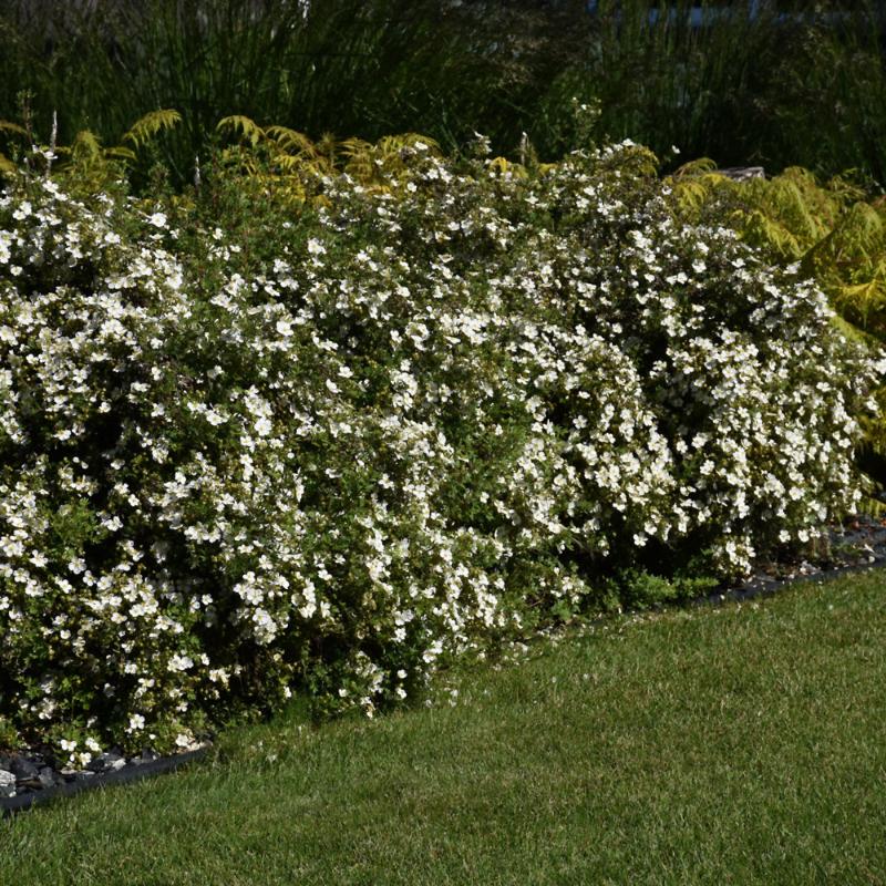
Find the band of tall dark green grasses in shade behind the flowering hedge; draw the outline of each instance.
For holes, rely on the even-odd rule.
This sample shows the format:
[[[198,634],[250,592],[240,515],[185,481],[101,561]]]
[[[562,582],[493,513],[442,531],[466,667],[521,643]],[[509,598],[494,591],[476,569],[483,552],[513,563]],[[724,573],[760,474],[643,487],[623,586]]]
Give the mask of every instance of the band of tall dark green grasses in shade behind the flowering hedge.
[[[577,96],[601,104],[601,140],[771,172],[853,167],[882,188],[882,3],[772,0],[754,18],[750,6],[600,0],[591,16],[585,0],[8,0],[0,119],[22,122],[29,91],[40,132],[58,111],[64,144],[82,130],[115,144],[132,121],[175,107],[184,125],[156,156],[181,186],[228,114],[313,141],[422,132],[447,152],[477,130],[511,154],[526,133],[552,159],[575,144]],[[690,27],[693,8],[710,13],[704,27]]]

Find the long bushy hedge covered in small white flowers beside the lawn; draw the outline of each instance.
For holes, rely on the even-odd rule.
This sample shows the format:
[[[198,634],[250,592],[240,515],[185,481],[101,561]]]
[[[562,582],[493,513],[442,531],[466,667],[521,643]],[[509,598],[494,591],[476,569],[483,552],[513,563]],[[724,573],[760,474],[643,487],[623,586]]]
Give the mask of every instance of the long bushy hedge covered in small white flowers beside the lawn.
[[[739,575],[853,505],[873,369],[810,285],[674,227],[647,152],[408,161],[227,230],[3,192],[0,718],[23,740],[184,746],[293,691],[371,713],[642,585],[614,575]]]

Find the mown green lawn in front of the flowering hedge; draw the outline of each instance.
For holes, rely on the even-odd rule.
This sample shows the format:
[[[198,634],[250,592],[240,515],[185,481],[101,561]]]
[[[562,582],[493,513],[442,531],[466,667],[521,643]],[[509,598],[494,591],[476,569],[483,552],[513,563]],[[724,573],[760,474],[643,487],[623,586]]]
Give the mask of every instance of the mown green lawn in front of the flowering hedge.
[[[886,574],[622,618],[446,704],[0,823],[0,883],[886,886]],[[260,762],[259,762],[260,761]]]

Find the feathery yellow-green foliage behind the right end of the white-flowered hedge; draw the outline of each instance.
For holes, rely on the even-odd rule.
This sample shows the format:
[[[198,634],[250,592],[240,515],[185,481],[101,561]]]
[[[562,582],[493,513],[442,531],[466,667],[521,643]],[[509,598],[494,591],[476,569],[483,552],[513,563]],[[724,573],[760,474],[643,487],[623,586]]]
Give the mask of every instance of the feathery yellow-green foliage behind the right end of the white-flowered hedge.
[[[875,350],[886,346],[886,199],[868,200],[841,177],[822,185],[800,167],[736,182],[709,159],[681,167],[669,184],[678,217],[725,223],[776,260],[797,262],[827,293],[845,334]],[[866,450],[879,461],[876,481],[883,486],[886,384],[876,399],[880,411],[865,422]]]

